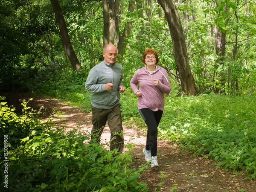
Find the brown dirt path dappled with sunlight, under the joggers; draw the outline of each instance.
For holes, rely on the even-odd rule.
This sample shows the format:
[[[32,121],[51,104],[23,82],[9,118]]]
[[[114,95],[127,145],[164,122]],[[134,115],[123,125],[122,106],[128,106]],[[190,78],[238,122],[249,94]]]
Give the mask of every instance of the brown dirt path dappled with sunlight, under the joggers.
[[[58,126],[67,130],[77,129],[90,135],[91,114],[83,113],[79,108],[67,105],[64,101],[23,93],[0,93],[6,97],[8,105],[17,111],[22,109],[21,101],[33,98],[27,106],[34,110],[41,109],[42,120],[53,117]],[[3,102],[3,101],[1,101]],[[61,112],[61,114],[56,112]],[[137,128],[124,126],[125,145],[134,143],[133,167],[138,169],[145,164],[142,149],[145,146],[145,134]],[[108,125],[102,134],[102,143],[108,147],[110,130]],[[87,143],[87,141],[85,141]],[[124,151],[128,149],[125,148]],[[245,180],[244,175],[234,174],[215,166],[212,160],[195,157],[179,145],[168,140],[158,143],[157,159],[159,167],[150,166],[140,176],[140,181],[147,183],[148,192],[256,192],[256,180]]]

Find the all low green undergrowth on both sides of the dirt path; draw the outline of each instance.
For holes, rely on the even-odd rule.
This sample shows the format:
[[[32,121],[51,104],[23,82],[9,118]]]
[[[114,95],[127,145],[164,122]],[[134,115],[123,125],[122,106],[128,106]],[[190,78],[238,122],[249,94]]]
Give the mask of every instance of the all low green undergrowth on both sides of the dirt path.
[[[50,78],[44,81],[39,82],[36,84],[36,89],[33,91],[34,93],[41,94],[41,95],[47,95],[47,96],[52,96],[57,99],[63,99],[67,102],[70,103],[70,105],[76,105],[77,107],[83,109],[85,112],[90,112],[90,93],[87,92],[84,89],[84,83],[86,80],[87,72],[81,70],[80,72],[70,72],[70,71],[64,71],[62,72],[61,76],[56,77],[55,79]],[[138,113],[137,110],[137,98],[134,96],[134,93],[132,93],[131,88],[129,87],[129,80],[126,79],[124,81],[126,91],[121,94],[121,109],[122,109],[122,116],[123,116],[123,122],[125,125],[128,125],[130,127],[134,128],[139,128],[146,130],[145,122],[141,118],[140,114]],[[213,93],[210,94],[201,94],[199,96],[184,96],[184,97],[177,97],[175,93],[175,87],[172,90],[172,93],[169,96],[166,96],[166,103],[165,103],[165,110],[163,113],[163,117],[161,119],[160,125],[159,125],[159,139],[164,139],[164,140],[170,140],[171,142],[176,142],[179,143],[180,145],[183,145],[185,148],[189,149],[192,153],[195,155],[201,155],[206,158],[211,158],[212,160],[215,161],[215,163],[218,166],[221,166],[225,169],[232,169],[234,173],[241,173],[244,172],[246,175],[246,178],[248,179],[255,179],[256,178],[256,94],[243,94],[240,96],[228,96],[228,95],[215,95]],[[1,106],[1,113],[2,109],[5,108],[6,106],[2,105]],[[8,116],[12,116],[13,119],[16,119],[14,114],[12,114],[12,109],[8,112]],[[1,117],[3,118],[3,117]],[[21,119],[23,117],[20,117]],[[21,119],[18,120],[21,122]],[[26,119],[26,118],[25,118]],[[2,119],[1,122],[2,123]],[[42,153],[42,155],[39,155],[38,160],[41,160],[41,157],[48,158],[49,160],[52,160],[52,162],[55,162],[55,164],[61,164],[58,166],[62,166],[64,163],[65,166],[61,167],[61,173],[59,173],[61,176],[56,175],[55,177],[51,175],[50,180],[44,181],[46,185],[43,185],[41,187],[47,186],[52,187],[52,189],[58,189],[61,184],[58,184],[57,186],[56,183],[65,183],[65,190],[70,188],[76,188],[78,187],[76,184],[71,184],[71,183],[76,183],[78,180],[76,180],[74,177],[74,172],[71,170],[77,170],[79,168],[79,164],[82,163],[84,164],[84,160],[86,160],[89,165],[92,163],[90,161],[89,157],[87,158],[86,154],[89,153],[87,150],[89,150],[87,147],[89,146],[84,146],[81,143],[81,140],[79,137],[82,138],[81,135],[65,135],[64,133],[60,132],[51,132],[51,134],[55,135],[55,137],[50,137],[54,142],[48,143],[47,146],[43,145],[45,144],[43,141],[46,139],[46,135],[49,134],[48,132],[50,128],[42,128],[38,122],[36,122],[34,119],[31,119],[31,121],[35,121],[34,127],[39,127],[41,128],[41,134],[36,134],[34,137],[35,139],[38,138],[40,142],[36,144],[32,144],[31,142],[33,139],[29,140],[22,140],[22,143],[19,144],[20,140],[19,138],[26,138],[26,137],[21,137],[20,134],[23,134],[23,132],[30,131],[31,134],[35,134],[35,128],[34,130],[31,129],[31,121],[28,122],[28,120],[24,120],[26,124],[20,125],[17,123],[17,120],[10,120],[12,124],[8,124],[8,128],[11,131],[9,134],[14,134],[13,135],[13,143],[17,145],[18,148],[13,148],[12,150],[9,151],[9,154],[12,157],[15,157],[15,161],[19,160],[19,158],[24,158],[25,162],[25,157],[23,157],[24,154],[19,154],[19,157],[16,157],[14,154],[15,152],[17,153],[17,149],[19,150],[29,150],[30,148],[35,148],[39,150],[39,153]],[[9,122],[8,122],[9,123]],[[1,124],[2,127],[3,123]],[[29,125],[29,126],[26,126]],[[7,126],[7,123],[6,125]],[[17,131],[17,130],[22,130],[22,131]],[[32,132],[31,132],[32,131]],[[34,131],[34,132],[33,132]],[[44,131],[44,132],[42,132]],[[43,134],[44,133],[44,134]],[[61,135],[63,134],[63,136]],[[43,137],[44,136],[44,137]],[[32,138],[34,138],[32,137]],[[67,140],[67,137],[72,139],[73,144],[72,145],[67,145],[65,140]],[[60,138],[60,139],[58,139]],[[71,143],[72,143],[71,142]],[[64,144],[69,146],[68,149],[64,149]],[[75,143],[75,144],[74,144]],[[41,145],[42,144],[42,145]],[[50,145],[49,145],[50,144]],[[26,146],[26,149],[25,147]],[[52,152],[47,152],[49,149],[49,146],[52,146],[52,149],[50,151]],[[46,147],[46,148],[45,148]],[[93,147],[93,146],[90,146]],[[57,149],[61,150],[57,150]],[[74,150],[72,149],[74,148]],[[34,149],[34,151],[35,151]],[[63,150],[64,149],[64,150]],[[76,150],[75,150],[76,149]],[[79,149],[79,150],[78,150]],[[28,152],[31,153],[33,150],[30,149],[31,151]],[[61,151],[68,151],[68,152],[61,152]],[[93,148],[93,152],[98,151],[98,150],[103,150],[101,148],[98,148],[98,146]],[[3,150],[2,150],[3,151]],[[41,152],[40,152],[41,151]],[[84,152],[81,152],[84,151]],[[57,157],[57,160],[53,160],[52,156],[45,156],[46,154],[54,154],[54,158]],[[63,154],[64,153],[64,154]],[[66,154],[67,153],[67,154]],[[82,155],[80,153],[83,153],[85,156],[82,158]],[[26,154],[26,153],[25,153]],[[44,154],[44,155],[43,155]],[[59,154],[60,156],[58,156]],[[99,159],[103,158],[104,160],[110,158],[110,154],[107,151],[102,151],[100,153],[96,152],[96,154],[99,155]],[[34,156],[35,155],[35,156]],[[32,155],[32,160],[34,157],[36,157],[38,153],[35,153]],[[92,155],[92,154],[90,154]],[[110,156],[108,156],[110,155]],[[129,160],[128,154],[123,154],[125,156],[125,160]],[[123,157],[121,155],[120,157]],[[62,162],[63,157],[68,157],[65,159],[65,162]],[[79,157],[79,158],[76,158]],[[81,157],[81,158],[80,158]],[[47,159],[46,158],[46,159]],[[99,160],[101,163],[95,164],[94,166],[97,167],[99,166],[99,169],[105,168],[106,165],[109,167],[115,166],[115,163],[111,164],[105,162],[104,160]],[[27,161],[30,162],[30,161]],[[70,162],[74,162],[71,166]],[[96,161],[97,162],[97,161]],[[17,162],[16,162],[17,163]],[[95,163],[95,162],[94,162]],[[44,165],[44,163],[41,163],[43,166],[45,166],[44,169],[46,170],[44,174],[48,173],[50,169],[59,169],[59,167],[56,165],[56,167],[50,166],[48,163]],[[129,164],[129,161],[126,163]],[[26,166],[28,163],[26,163]],[[33,165],[33,161],[32,161]],[[38,163],[39,165],[39,163]],[[38,170],[41,168],[41,166],[34,165],[34,166],[28,166],[27,169],[31,170]],[[76,166],[75,166],[76,165]],[[88,165],[88,166],[89,166]],[[102,166],[104,165],[104,166]],[[17,164],[15,164],[17,166]],[[70,168],[70,166],[72,168]],[[75,167],[73,167],[75,166]],[[107,167],[108,167],[107,166]],[[15,169],[20,169],[20,167],[16,167]],[[84,169],[84,168],[83,168]],[[117,168],[116,168],[117,169]],[[119,170],[120,173],[125,173],[127,174],[124,169],[125,167],[121,166]],[[23,169],[20,169],[23,170]],[[41,169],[40,169],[41,170]],[[96,171],[97,170],[97,171]],[[100,172],[98,169],[93,169],[90,172],[87,173],[89,175],[88,177],[91,178],[90,174],[95,174],[95,172]],[[25,171],[24,171],[25,173]],[[103,170],[103,175],[105,174],[110,174],[114,175],[116,173],[112,173],[111,170]],[[134,172],[133,172],[134,173]],[[137,172],[135,172],[137,174]],[[134,173],[134,174],[135,174]],[[30,175],[35,174],[35,172],[31,172]],[[128,172],[128,175],[132,174],[132,171]],[[135,175],[136,175],[135,174]],[[132,183],[135,182],[135,176],[131,177],[134,178]],[[82,175],[79,175],[80,179],[83,179]],[[114,176],[113,176],[114,177]],[[127,191],[129,191],[131,188],[129,188],[131,185],[126,186],[126,181],[128,179],[127,175],[122,175],[122,177],[125,178],[125,181],[122,180],[124,183],[118,183],[114,178],[119,178],[119,176],[116,176],[114,178],[111,177],[109,181],[112,183],[117,182],[118,187],[121,187],[122,184],[125,186]],[[26,176],[26,178],[30,178],[30,176]],[[100,177],[101,178],[101,177]],[[18,180],[17,183],[26,183],[21,181],[18,177],[16,178]],[[30,179],[29,179],[30,180]],[[35,179],[36,180],[36,179]],[[38,180],[38,179],[37,179]],[[74,182],[72,181],[74,180]],[[104,179],[103,179],[104,180]],[[81,180],[80,180],[81,181]],[[34,180],[31,181],[31,183],[36,183]],[[83,182],[81,182],[83,183]],[[41,183],[42,184],[42,183]],[[102,185],[99,184],[99,185]],[[98,190],[97,186],[98,184],[93,184],[92,188],[95,187]],[[116,185],[116,184],[115,184]],[[134,184],[135,185],[135,184]],[[39,184],[37,183],[36,185],[38,188],[40,188]],[[105,186],[105,185],[102,185]],[[106,184],[106,186],[108,186]],[[63,186],[61,186],[63,187]],[[91,186],[87,186],[91,187]],[[133,186],[134,187],[134,186]],[[142,184],[141,187],[144,190],[144,185]],[[89,189],[88,188],[88,189]],[[90,188],[90,189],[92,189]],[[85,190],[85,188],[83,188]],[[87,189],[86,189],[87,190]],[[103,189],[102,189],[103,190]],[[139,191],[140,189],[138,189]]]

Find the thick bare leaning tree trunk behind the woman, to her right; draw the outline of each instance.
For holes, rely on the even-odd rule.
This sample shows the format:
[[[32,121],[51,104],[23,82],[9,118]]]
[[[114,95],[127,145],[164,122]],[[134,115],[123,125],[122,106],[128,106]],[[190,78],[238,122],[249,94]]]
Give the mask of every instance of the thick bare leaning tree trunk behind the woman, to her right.
[[[173,54],[180,75],[182,91],[188,95],[196,95],[195,81],[189,66],[189,59],[183,29],[177,7],[173,0],[157,0],[162,6],[172,37]]]

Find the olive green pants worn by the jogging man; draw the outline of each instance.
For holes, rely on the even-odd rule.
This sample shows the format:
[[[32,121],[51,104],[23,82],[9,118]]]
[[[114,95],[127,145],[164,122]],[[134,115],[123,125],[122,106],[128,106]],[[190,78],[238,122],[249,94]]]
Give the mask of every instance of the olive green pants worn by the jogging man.
[[[92,123],[91,140],[93,142],[100,142],[100,137],[108,121],[108,126],[111,131],[110,150],[117,149],[122,153],[124,148],[122,116],[120,110],[121,104],[114,106],[111,109],[100,109],[92,106]]]

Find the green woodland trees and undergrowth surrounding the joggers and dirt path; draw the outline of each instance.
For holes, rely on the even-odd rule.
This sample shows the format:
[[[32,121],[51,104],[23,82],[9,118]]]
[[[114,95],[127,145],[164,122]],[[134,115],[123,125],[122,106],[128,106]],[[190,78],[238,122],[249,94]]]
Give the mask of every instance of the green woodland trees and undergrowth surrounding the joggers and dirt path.
[[[119,53],[118,62],[124,69],[126,91],[121,98],[124,123],[145,128],[129,81],[135,71],[143,67],[141,60],[145,49],[156,49],[159,64],[168,71],[172,85],[172,92],[166,96],[160,138],[180,143],[195,154],[216,160],[219,166],[234,172],[244,171],[247,178],[255,178],[255,0],[0,2],[0,91],[30,92],[65,99],[90,112],[90,93],[84,90],[84,83],[90,69],[102,61],[102,47],[115,44]],[[60,152],[63,148],[53,145],[54,142],[53,148],[47,151],[45,145],[50,141],[46,137],[60,133],[52,132],[50,125],[42,128],[39,121],[34,122],[35,114],[26,112],[26,102],[23,103],[23,114],[16,114],[7,105],[5,102],[0,105],[1,134],[13,138],[9,140],[9,148],[12,149],[9,153],[15,166],[10,171],[20,170],[16,175],[19,178],[17,185],[26,185],[24,190],[34,190],[35,187],[51,190],[57,186],[60,190],[67,190],[69,185],[84,191],[103,190],[99,188],[104,186],[102,183],[91,184],[93,186],[90,186],[93,182],[81,184],[87,177],[94,178],[90,174],[97,171],[89,169],[92,164],[83,167],[90,170],[87,177],[76,175],[76,179],[82,178],[78,183],[68,172],[80,169],[82,160],[84,163],[82,154],[76,154],[81,158],[73,156],[74,146],[85,151],[92,146],[84,149],[78,142],[79,136],[73,138],[69,134],[70,141],[79,143],[72,146],[65,144],[70,154],[68,157],[76,159],[77,167],[67,168],[72,166],[69,164],[71,160],[65,159],[66,166],[52,168],[50,163],[55,160],[53,157],[58,157],[59,163],[63,163],[61,157],[65,155]],[[65,143],[61,139],[64,139],[62,134],[57,137]],[[51,138],[55,140],[56,135]],[[29,146],[31,151],[28,150],[26,156],[24,150]],[[102,157],[98,163],[106,160],[104,155],[111,159],[107,151],[97,154]],[[41,178],[43,169],[38,171],[36,165],[24,166],[28,157],[32,162],[37,162],[40,157],[47,167],[44,170],[55,170],[51,172],[50,181]],[[89,157],[94,156],[88,152]],[[44,161],[46,159],[49,163]],[[93,166],[100,169],[98,164]],[[38,175],[35,175],[35,170]],[[109,174],[110,170],[107,169],[105,174]],[[117,173],[120,174],[120,171],[117,170]],[[140,187],[141,191],[145,190],[142,189],[144,185],[136,186],[138,177],[132,170],[127,174],[134,176],[131,178],[134,182],[125,181],[133,186],[125,182],[124,185],[113,176],[116,190],[133,191],[134,187],[137,191]],[[122,175],[129,178],[126,176]],[[99,175],[95,177],[99,178]],[[63,181],[67,182],[66,186],[61,184]],[[108,187],[111,186],[106,186],[106,190],[114,191]]]

